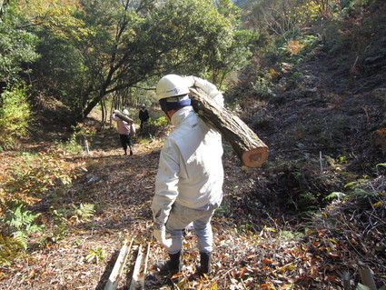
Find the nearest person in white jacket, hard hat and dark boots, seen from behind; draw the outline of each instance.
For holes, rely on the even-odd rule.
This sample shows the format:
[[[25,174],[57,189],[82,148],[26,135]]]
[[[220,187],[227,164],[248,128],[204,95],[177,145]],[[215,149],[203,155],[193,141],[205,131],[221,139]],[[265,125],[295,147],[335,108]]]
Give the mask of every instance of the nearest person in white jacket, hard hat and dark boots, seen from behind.
[[[157,84],[157,100],[175,127],[161,150],[152,203],[153,235],[170,256],[156,265],[164,275],[181,271],[182,234],[191,223],[200,251],[197,274],[208,275],[213,252],[211,220],[223,199],[222,136],[195,114],[189,87],[201,88],[223,105],[216,86],[199,77],[165,75]]]

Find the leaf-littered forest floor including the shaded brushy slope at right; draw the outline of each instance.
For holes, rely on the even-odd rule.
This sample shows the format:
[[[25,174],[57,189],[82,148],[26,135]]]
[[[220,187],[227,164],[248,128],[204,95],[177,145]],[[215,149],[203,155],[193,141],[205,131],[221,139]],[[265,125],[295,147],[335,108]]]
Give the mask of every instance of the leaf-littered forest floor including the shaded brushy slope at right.
[[[275,95],[264,105],[252,99],[245,104],[244,121],[270,147],[261,168],[243,167],[223,145],[224,198],[213,216],[209,277],[193,278],[198,251],[192,230],[183,235],[180,275],[169,279],[152,269],[166,258],[152,237],[150,205],[167,132],[137,136],[134,155],[123,155],[115,129],[108,127],[89,138],[89,154],[55,155],[83,167],[83,174],[34,205],[45,228],[30,238],[45,243],[0,265],[0,289],[104,289],[125,239],[133,239],[133,255],[118,289],[129,289],[140,248],[150,249],[145,289],[339,290],[343,276],[353,289],[364,268],[371,269],[377,287],[386,285],[386,176],[385,167],[376,166],[386,152],[386,90],[326,92],[316,85],[320,79],[304,79],[300,91]],[[56,152],[60,136],[40,130],[25,151]],[[25,158],[20,152],[0,157],[2,172]],[[347,194],[350,182],[372,199],[324,198]],[[54,208],[58,217],[61,208],[81,204],[95,205],[94,215],[54,221]]]

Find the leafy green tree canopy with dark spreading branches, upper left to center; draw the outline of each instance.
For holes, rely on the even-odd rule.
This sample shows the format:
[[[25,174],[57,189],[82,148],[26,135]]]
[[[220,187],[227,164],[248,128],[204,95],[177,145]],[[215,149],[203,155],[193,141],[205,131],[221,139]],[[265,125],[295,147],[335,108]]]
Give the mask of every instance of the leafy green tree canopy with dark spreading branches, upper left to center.
[[[82,121],[105,97],[130,95],[130,88],[153,86],[152,77],[167,73],[223,82],[249,56],[252,35],[238,31],[239,11],[234,5],[226,0],[220,4],[217,7],[210,0],[10,2],[5,5],[2,29],[8,37],[16,33],[17,37],[3,40],[8,47],[18,46],[2,69],[12,68],[9,77],[24,78],[31,85],[28,91],[36,104],[47,105],[52,97],[61,102],[68,110],[62,114],[68,123]],[[6,25],[17,19],[20,25]],[[20,27],[25,35],[19,33]],[[2,49],[7,55],[9,48]],[[17,57],[22,53],[24,58]],[[11,82],[9,77],[3,80],[5,85]]]

